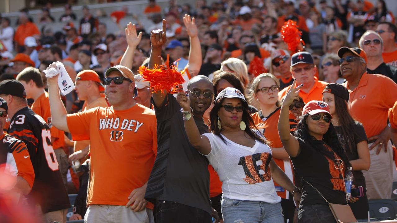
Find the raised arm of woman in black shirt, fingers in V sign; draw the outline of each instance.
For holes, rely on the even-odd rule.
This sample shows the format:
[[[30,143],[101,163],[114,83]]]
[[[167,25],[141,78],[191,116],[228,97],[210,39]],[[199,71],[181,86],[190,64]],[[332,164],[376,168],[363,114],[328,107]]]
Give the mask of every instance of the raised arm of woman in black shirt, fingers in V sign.
[[[290,133],[289,126],[289,106],[292,104],[293,100],[299,100],[299,89],[303,85],[299,85],[294,88],[296,80],[292,83],[292,87],[287,91],[283,104],[281,104],[280,117],[278,119],[278,134],[280,136],[281,142],[287,151],[288,155],[291,157],[298,156],[301,153],[301,148],[299,148],[299,142],[295,136]]]

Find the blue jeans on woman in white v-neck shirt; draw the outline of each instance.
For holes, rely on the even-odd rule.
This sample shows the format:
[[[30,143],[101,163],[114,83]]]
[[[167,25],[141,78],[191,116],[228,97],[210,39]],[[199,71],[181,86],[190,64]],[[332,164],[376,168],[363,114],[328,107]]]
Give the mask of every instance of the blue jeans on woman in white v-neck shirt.
[[[222,197],[224,223],[284,223],[281,204]]]

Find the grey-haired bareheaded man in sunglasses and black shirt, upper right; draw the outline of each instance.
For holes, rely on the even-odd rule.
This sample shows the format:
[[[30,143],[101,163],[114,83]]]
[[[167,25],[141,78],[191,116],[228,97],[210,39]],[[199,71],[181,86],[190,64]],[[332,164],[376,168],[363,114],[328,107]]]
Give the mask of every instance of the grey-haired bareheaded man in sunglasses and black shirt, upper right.
[[[367,54],[367,72],[383,74],[397,83],[397,67],[386,64],[382,58],[384,50],[382,37],[374,31],[366,31],[358,43]]]

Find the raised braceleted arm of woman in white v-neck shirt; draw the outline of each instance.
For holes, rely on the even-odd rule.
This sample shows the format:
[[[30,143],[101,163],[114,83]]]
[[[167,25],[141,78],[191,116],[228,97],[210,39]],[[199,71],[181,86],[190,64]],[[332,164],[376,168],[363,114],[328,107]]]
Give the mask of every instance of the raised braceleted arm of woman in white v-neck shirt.
[[[206,136],[200,135],[200,132],[198,131],[195,120],[193,119],[193,114],[191,113],[190,99],[187,96],[187,93],[179,92],[176,96],[176,101],[184,112],[190,112],[191,117],[188,120],[183,119],[185,123],[185,131],[190,144],[192,144],[192,146],[201,154],[208,155],[211,152],[210,140],[208,140]]]

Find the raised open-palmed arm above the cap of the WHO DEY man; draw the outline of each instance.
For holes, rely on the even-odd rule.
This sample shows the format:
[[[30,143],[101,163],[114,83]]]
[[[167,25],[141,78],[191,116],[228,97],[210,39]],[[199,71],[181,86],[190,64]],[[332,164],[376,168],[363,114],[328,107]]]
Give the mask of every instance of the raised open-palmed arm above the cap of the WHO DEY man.
[[[123,57],[121,58],[120,65],[131,69],[134,60],[135,49],[137,48],[139,42],[141,42],[142,32],[139,32],[137,35],[137,28],[135,24],[128,23],[127,28],[125,28],[125,38],[127,38],[128,46]]]

